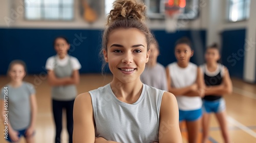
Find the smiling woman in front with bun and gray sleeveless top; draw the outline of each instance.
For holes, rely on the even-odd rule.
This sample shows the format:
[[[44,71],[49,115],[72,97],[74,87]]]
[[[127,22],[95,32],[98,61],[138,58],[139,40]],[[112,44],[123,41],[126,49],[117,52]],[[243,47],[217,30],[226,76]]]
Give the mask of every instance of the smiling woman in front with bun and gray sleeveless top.
[[[145,5],[113,5],[102,42],[113,80],[76,98],[74,142],[182,142],[174,95],[140,81],[153,39]]]

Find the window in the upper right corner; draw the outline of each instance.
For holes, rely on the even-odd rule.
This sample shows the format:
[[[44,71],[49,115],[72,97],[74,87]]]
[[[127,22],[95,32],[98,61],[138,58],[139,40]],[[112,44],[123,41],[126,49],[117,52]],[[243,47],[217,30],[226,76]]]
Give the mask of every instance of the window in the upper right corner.
[[[249,18],[250,0],[229,0],[228,20],[232,22]]]

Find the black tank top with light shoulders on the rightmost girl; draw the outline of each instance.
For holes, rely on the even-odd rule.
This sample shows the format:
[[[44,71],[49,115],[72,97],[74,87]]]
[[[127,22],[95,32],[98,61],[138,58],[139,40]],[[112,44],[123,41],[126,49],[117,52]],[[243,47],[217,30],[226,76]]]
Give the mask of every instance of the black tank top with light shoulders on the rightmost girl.
[[[201,66],[201,69],[204,73],[204,81],[207,86],[220,85],[222,82],[222,78],[224,75],[224,65],[218,64],[217,70],[214,72],[210,72],[207,69],[207,65],[204,64]],[[222,95],[209,95],[205,96],[203,99],[208,101],[215,101],[221,99]]]

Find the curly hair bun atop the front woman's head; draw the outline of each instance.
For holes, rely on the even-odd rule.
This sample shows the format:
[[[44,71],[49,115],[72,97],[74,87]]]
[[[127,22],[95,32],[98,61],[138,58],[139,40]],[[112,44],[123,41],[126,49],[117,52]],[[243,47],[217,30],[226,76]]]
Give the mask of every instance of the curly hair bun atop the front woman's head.
[[[134,19],[144,22],[146,19],[146,6],[137,0],[116,0],[113,9],[108,16],[107,25],[111,25],[116,20]]]

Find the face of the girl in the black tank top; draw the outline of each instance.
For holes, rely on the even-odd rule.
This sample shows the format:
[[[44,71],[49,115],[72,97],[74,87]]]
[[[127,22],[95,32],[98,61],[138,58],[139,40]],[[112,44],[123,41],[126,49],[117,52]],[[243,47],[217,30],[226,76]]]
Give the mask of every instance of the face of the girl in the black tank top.
[[[205,60],[207,63],[216,63],[220,60],[220,54],[217,49],[209,48],[205,53]]]

